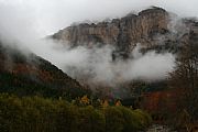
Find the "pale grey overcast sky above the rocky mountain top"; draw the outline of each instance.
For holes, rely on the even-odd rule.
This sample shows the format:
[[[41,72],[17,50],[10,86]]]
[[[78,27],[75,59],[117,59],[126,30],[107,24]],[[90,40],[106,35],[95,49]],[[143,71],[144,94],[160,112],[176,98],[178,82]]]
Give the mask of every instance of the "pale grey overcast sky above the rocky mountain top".
[[[43,37],[73,22],[120,18],[150,6],[198,16],[198,0],[0,0],[0,26]]]

